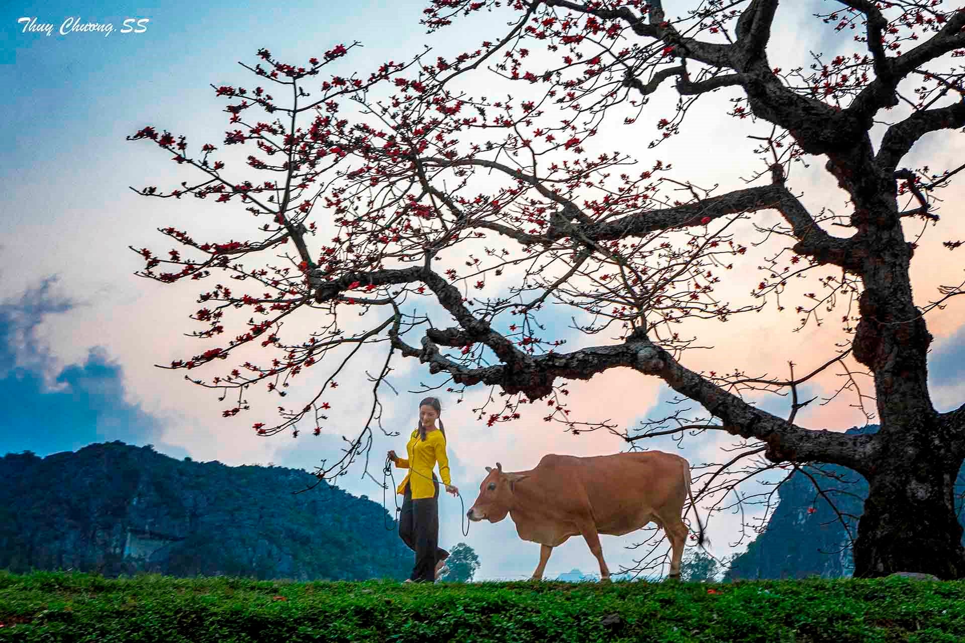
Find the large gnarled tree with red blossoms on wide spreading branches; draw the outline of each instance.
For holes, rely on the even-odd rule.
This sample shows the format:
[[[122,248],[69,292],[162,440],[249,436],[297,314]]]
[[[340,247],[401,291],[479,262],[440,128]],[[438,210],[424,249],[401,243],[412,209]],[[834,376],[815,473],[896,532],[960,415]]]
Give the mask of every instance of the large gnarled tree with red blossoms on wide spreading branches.
[[[240,202],[269,219],[256,225],[254,241],[202,242],[161,228],[188,250],[132,248],[147,261],[144,277],[193,281],[222,271],[239,281],[201,294],[205,308],[193,318],[207,330],[196,335],[223,335],[232,308],[251,316],[233,339],[170,368],[227,360],[253,342],[277,349],[270,364],[244,362],[210,381],[185,376],[226,394],[236,388],[230,416],[249,410],[244,389],[263,382],[284,396],[290,378],[324,364],[321,390],[294,409],[279,406],[281,421],[254,424],[261,435],[297,436],[307,418],[317,435],[338,374],[361,371],[357,356],[381,351],[381,367],[366,371],[370,421],[320,478],[345,472],[367,452],[372,426],[380,426],[379,389],[401,358],[439,376],[427,388],[499,391],[499,402],[490,396],[476,409],[490,425],[540,403],[545,419],[574,433],[616,427],[571,416],[566,382],[633,369],[660,378],[708,417],[653,420],[627,441],[727,431],[746,447],[708,471],[703,493],[731,490],[745,477],[734,467],[758,454],[751,473],[841,465],[869,481],[856,576],[965,576],[952,498],[965,458],[965,407],[940,414],[932,406],[924,321],[962,288],[944,287],[936,301],[917,305],[909,278],[916,243],[906,238],[916,221],[923,228],[938,221],[935,195],[963,168],[902,166],[924,135],[965,125],[965,74],[954,60],[965,55],[965,10],[925,0],[827,4],[817,18],[853,50],[831,60],[813,54],[810,64],[787,69],[768,61],[777,0],[703,0],[679,9],[683,17],[657,1],[432,0],[423,18],[429,32],[483,10],[508,14],[510,26],[455,57],[423,52],[368,74],[326,68],[343,65],[354,44],[307,67],[260,50],[266,67],[245,67],[264,88],[215,88],[231,101],[223,149],[207,144],[189,155],[184,137],[151,126],[130,137],[151,140],[203,176],[140,193]],[[802,9],[793,3],[781,12]],[[276,90],[290,102],[278,104]],[[655,156],[673,145],[697,101],[718,90],[734,96],[730,114],[754,134],[760,159],[729,192],[687,181]],[[672,93],[673,114],[649,113],[651,97]],[[249,118],[259,109],[269,121]],[[882,119],[889,121],[872,140]],[[653,121],[656,132],[646,124]],[[627,138],[648,132],[655,137],[648,147]],[[596,145],[607,136],[616,148]],[[267,179],[228,174],[239,148],[247,151],[237,160]],[[637,160],[643,154],[646,167]],[[846,195],[847,215],[809,211],[792,190],[791,170],[816,156]],[[767,211],[779,213],[779,223],[756,225]],[[243,262],[279,248],[290,249],[284,265]],[[763,278],[750,277],[751,296],[731,304],[718,294],[722,278],[754,275],[752,259]],[[180,268],[159,272],[162,264]],[[839,276],[812,277],[829,266]],[[797,279],[819,283],[793,308],[802,326],[820,323],[824,310],[841,314],[847,345],[829,347],[827,362],[804,376],[792,365],[787,380],[688,368],[700,329],[771,303],[786,309],[782,295],[791,296]],[[248,284],[256,287],[234,291]],[[285,343],[282,324],[305,308],[322,320],[319,330]],[[569,330],[560,319],[571,319]],[[582,345],[566,350],[566,341]],[[800,385],[833,366],[846,375],[839,392],[855,394],[863,409],[873,400],[866,410],[881,424],[877,434],[795,423],[808,403]],[[859,387],[863,376],[867,388]],[[762,389],[790,392],[788,417],[750,402]]]

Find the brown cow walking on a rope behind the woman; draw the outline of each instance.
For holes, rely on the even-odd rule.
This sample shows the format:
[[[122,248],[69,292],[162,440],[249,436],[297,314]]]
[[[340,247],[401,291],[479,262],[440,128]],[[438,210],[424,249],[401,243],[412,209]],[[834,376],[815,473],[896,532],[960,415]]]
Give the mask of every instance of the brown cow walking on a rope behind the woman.
[[[503,472],[498,462],[480,485],[480,496],[466,512],[471,521],[500,522],[510,514],[523,540],[539,543],[539,565],[533,579],[542,578],[554,547],[582,535],[600,563],[600,579],[609,580],[599,534],[622,536],[656,522],[670,538],[674,553],[670,578],[680,577],[680,559],[687,540],[681,519],[690,497],[690,466],[673,453],[645,451],[580,458],[545,455],[536,469]],[[703,548],[703,524],[698,544]]]

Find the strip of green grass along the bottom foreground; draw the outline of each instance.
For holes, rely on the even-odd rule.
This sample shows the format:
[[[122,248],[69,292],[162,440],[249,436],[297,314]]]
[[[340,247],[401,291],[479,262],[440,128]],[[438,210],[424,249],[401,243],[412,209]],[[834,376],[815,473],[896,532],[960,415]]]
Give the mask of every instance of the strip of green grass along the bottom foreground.
[[[960,643],[965,581],[402,585],[0,572],[0,623],[0,642]]]

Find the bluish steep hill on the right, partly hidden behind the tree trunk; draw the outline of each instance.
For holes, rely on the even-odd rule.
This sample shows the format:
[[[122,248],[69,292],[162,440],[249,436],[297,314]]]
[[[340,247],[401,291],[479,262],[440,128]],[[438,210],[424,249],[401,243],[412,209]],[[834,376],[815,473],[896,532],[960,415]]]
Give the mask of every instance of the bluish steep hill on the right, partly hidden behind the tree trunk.
[[[878,428],[871,424],[845,433],[876,433]],[[861,474],[835,465],[802,469],[820,483],[842,516],[864,513],[868,482]],[[959,470],[956,484],[960,494],[965,489],[965,467]],[[851,576],[854,565],[847,533],[828,501],[815,493],[808,476],[795,473],[781,486],[778,496],[780,501],[767,526],[745,552],[733,559],[724,579]],[[965,525],[961,499],[957,502],[959,521]],[[857,521],[845,522],[857,537]],[[962,541],[965,543],[965,536]]]

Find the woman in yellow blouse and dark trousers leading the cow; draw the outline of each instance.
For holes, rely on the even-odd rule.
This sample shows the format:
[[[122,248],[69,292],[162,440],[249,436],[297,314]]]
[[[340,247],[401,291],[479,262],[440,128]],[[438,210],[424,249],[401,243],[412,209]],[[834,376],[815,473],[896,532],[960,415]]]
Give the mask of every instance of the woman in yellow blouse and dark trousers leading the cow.
[[[449,457],[446,455],[446,431],[439,414],[439,399],[427,397],[419,403],[419,427],[412,432],[405,451],[409,456],[400,458],[389,451],[389,458],[399,469],[409,469],[399,484],[397,494],[402,494],[399,517],[399,535],[402,542],[416,552],[416,564],[405,582],[432,582],[438,576],[449,552],[439,549],[439,487],[435,463],[439,463],[439,475],[446,491],[457,496],[459,490],[450,484]],[[435,422],[439,420],[436,428]],[[415,475],[413,475],[413,472]]]

